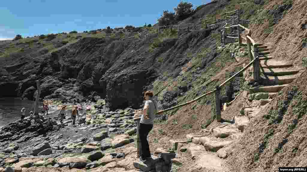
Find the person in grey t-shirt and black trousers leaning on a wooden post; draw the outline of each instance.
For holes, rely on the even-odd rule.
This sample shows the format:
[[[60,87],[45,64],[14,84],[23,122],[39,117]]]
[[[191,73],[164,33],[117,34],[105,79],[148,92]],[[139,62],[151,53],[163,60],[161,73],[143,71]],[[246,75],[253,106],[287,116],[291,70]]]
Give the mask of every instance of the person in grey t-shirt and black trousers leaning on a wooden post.
[[[156,117],[158,107],[157,102],[153,100],[152,91],[145,92],[144,99],[146,100],[146,102],[142,111],[139,128],[142,147],[142,155],[140,157],[140,160],[142,162],[146,162],[147,158],[151,157],[147,136],[151,129],[153,129],[153,120]]]

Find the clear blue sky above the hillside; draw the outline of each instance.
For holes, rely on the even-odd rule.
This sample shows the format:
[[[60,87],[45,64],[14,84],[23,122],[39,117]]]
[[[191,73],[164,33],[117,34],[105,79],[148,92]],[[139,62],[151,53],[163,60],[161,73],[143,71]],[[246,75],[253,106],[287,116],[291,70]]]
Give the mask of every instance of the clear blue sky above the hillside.
[[[110,26],[155,24],[163,10],[174,12],[180,0],[2,0],[0,40]],[[211,0],[183,0],[197,6]]]

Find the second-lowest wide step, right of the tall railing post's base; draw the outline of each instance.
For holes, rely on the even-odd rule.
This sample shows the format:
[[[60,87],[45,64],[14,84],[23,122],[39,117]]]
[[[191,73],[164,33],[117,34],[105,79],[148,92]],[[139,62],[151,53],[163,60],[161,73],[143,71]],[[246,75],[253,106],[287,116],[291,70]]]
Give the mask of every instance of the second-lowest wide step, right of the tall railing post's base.
[[[284,76],[267,76],[260,75],[261,83],[263,85],[281,85],[281,84],[290,84],[293,80],[298,78],[301,73],[297,73],[294,75],[284,75]]]

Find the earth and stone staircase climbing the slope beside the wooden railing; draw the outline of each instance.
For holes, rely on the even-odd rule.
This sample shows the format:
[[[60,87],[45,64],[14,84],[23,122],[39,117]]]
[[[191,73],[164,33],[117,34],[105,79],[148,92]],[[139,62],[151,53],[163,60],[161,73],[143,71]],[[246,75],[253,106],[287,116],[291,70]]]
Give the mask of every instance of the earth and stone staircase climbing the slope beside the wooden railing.
[[[239,24],[247,28],[249,21],[239,21]],[[231,34],[227,36],[235,37],[237,35],[238,31],[234,28]],[[226,43],[237,41],[238,39],[226,39]],[[232,150],[229,145],[243,135],[244,129],[249,125],[251,118],[256,117],[260,110],[266,107],[282,88],[288,86],[305,70],[304,68],[293,67],[290,62],[275,60],[270,56],[270,48],[267,44],[257,43],[257,48],[260,80],[255,84],[258,84],[258,86],[243,92],[244,106],[237,115],[233,116],[231,123],[222,122],[220,126],[209,130],[204,129],[202,133],[187,134],[188,141],[186,144],[178,145],[184,143],[184,140],[169,141],[173,148],[178,146],[180,151],[187,150],[192,158],[198,157],[197,159],[203,161],[196,163],[197,166],[206,164],[206,159],[209,157],[209,163],[210,161],[216,163],[216,165],[212,165],[212,163],[208,165],[212,168],[211,170],[221,172],[228,170],[227,167],[222,167],[222,162]],[[202,159],[202,157],[205,157],[205,159]],[[208,168],[208,166],[205,167]]]

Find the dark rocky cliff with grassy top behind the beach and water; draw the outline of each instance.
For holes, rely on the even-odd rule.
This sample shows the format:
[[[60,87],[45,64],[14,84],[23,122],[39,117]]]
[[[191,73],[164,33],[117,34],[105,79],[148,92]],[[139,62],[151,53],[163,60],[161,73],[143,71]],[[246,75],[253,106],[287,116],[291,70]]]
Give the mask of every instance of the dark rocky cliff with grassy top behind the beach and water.
[[[197,22],[214,8],[219,3],[204,6],[182,23]],[[144,40],[127,38],[135,32],[122,29],[111,35],[62,33],[52,40],[33,37],[2,43],[0,88],[6,92],[0,96],[33,99],[35,80],[41,80],[41,99],[84,101],[99,95],[111,109],[139,108],[153,81],[162,73],[177,77],[193,58],[187,53],[199,52],[212,32],[201,29],[158,38],[153,31]],[[156,47],[153,41],[158,41]],[[206,46],[211,44],[215,42]]]

